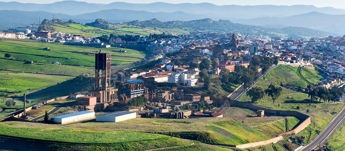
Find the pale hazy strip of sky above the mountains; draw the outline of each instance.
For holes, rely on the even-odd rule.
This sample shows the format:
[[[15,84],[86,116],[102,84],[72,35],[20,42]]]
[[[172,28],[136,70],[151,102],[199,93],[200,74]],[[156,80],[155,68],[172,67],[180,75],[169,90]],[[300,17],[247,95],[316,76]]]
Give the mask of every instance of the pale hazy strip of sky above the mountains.
[[[14,0],[0,0],[0,1],[14,1]],[[23,3],[53,3],[61,0],[17,0]],[[121,0],[77,0],[85,1],[89,3],[111,3]],[[123,2],[129,3],[152,3],[152,2],[168,2],[168,3],[201,3],[209,2],[216,5],[262,5],[262,4],[273,4],[273,5],[295,5],[295,4],[305,4],[314,5],[316,7],[334,7],[345,9],[344,0],[122,0]]]

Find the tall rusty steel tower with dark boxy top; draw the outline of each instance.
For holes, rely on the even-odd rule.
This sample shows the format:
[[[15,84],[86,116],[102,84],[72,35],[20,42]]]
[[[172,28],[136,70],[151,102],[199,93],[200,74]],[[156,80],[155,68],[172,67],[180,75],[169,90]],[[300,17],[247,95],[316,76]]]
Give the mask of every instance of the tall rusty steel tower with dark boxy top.
[[[96,53],[95,91],[97,102],[110,101],[110,53]],[[112,99],[111,99],[112,100]]]

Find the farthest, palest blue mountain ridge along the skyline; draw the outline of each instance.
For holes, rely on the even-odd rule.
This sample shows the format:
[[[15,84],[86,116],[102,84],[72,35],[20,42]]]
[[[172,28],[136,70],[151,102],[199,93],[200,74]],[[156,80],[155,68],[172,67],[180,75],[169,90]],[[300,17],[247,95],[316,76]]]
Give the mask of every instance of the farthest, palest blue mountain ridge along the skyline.
[[[307,5],[293,6],[239,6],[223,5],[217,6],[211,3],[180,3],[171,4],[155,2],[150,4],[136,4],[126,2],[113,2],[110,4],[96,4],[77,1],[61,1],[51,4],[34,4],[19,2],[0,2],[0,10],[21,10],[21,11],[46,11],[51,13],[64,13],[68,15],[78,15],[84,13],[97,12],[107,9],[137,10],[148,12],[176,12],[182,11],[189,14],[204,14],[215,19],[230,18],[257,18],[265,16],[286,17],[308,12],[321,12],[326,14],[345,14],[344,9],[335,9],[332,7],[317,8]],[[76,7],[77,6],[77,7]]]

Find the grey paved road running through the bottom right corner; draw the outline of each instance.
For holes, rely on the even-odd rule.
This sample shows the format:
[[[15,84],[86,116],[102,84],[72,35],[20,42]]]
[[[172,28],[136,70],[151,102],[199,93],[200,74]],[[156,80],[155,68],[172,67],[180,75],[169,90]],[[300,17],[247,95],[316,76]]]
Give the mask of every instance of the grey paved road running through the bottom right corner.
[[[326,140],[331,137],[331,134],[336,130],[335,128],[337,125],[340,125],[344,122],[345,119],[345,110],[342,109],[337,116],[329,122],[329,124],[326,126],[326,128],[316,137],[315,140],[313,140],[311,143],[306,145],[304,148],[302,148],[299,151],[310,151],[317,147],[320,144],[325,144]]]

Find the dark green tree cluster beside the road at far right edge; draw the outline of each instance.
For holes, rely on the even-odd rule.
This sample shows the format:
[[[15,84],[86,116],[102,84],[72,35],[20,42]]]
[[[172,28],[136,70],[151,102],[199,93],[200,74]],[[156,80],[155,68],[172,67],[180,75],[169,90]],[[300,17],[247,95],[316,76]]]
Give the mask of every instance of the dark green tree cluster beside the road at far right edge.
[[[328,102],[335,102],[338,98],[340,98],[343,95],[343,91],[338,88],[338,87],[333,87],[331,89],[327,89],[327,88],[315,88],[312,91],[309,91],[309,97],[313,100],[313,101],[317,101],[319,100],[319,102],[321,103],[321,100],[323,100],[324,102],[328,101]]]

